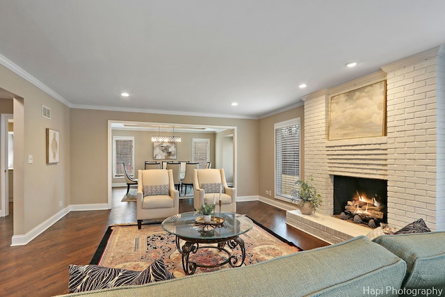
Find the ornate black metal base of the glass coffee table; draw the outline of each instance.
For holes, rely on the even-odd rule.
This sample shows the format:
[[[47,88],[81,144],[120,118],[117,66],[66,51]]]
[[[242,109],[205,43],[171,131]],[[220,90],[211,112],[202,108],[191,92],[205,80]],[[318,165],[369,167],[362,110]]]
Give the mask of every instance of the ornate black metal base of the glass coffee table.
[[[181,248],[181,246],[179,245],[180,238],[177,236],[176,237],[176,248],[182,254],[182,268],[184,268],[184,272],[187,275],[191,275],[191,274],[195,273],[197,267],[213,268],[213,267],[223,266],[227,263],[232,267],[239,267],[239,266],[243,265],[243,263],[244,263],[244,260],[245,260],[244,241],[239,236],[236,236],[236,237],[229,239],[227,241],[224,241],[224,242],[216,242],[216,241],[212,242],[211,240],[200,242],[200,243],[218,243],[218,246],[200,246],[200,243],[198,243],[196,241],[195,242],[188,241],[188,239],[184,239],[184,240],[186,241],[186,243],[184,243],[184,245]],[[241,250],[241,261],[238,262],[238,260],[239,260],[238,256],[234,255],[232,252],[227,250],[227,248],[225,248],[226,245],[229,248],[231,248],[232,250],[234,250],[237,246],[239,246],[239,248]],[[202,264],[197,264],[195,262],[191,262],[190,258],[189,258],[190,253],[196,254],[196,252],[199,248],[217,248],[220,252],[227,253],[227,259],[225,259],[224,262],[221,262],[221,263],[218,263],[215,265],[202,265]]]

